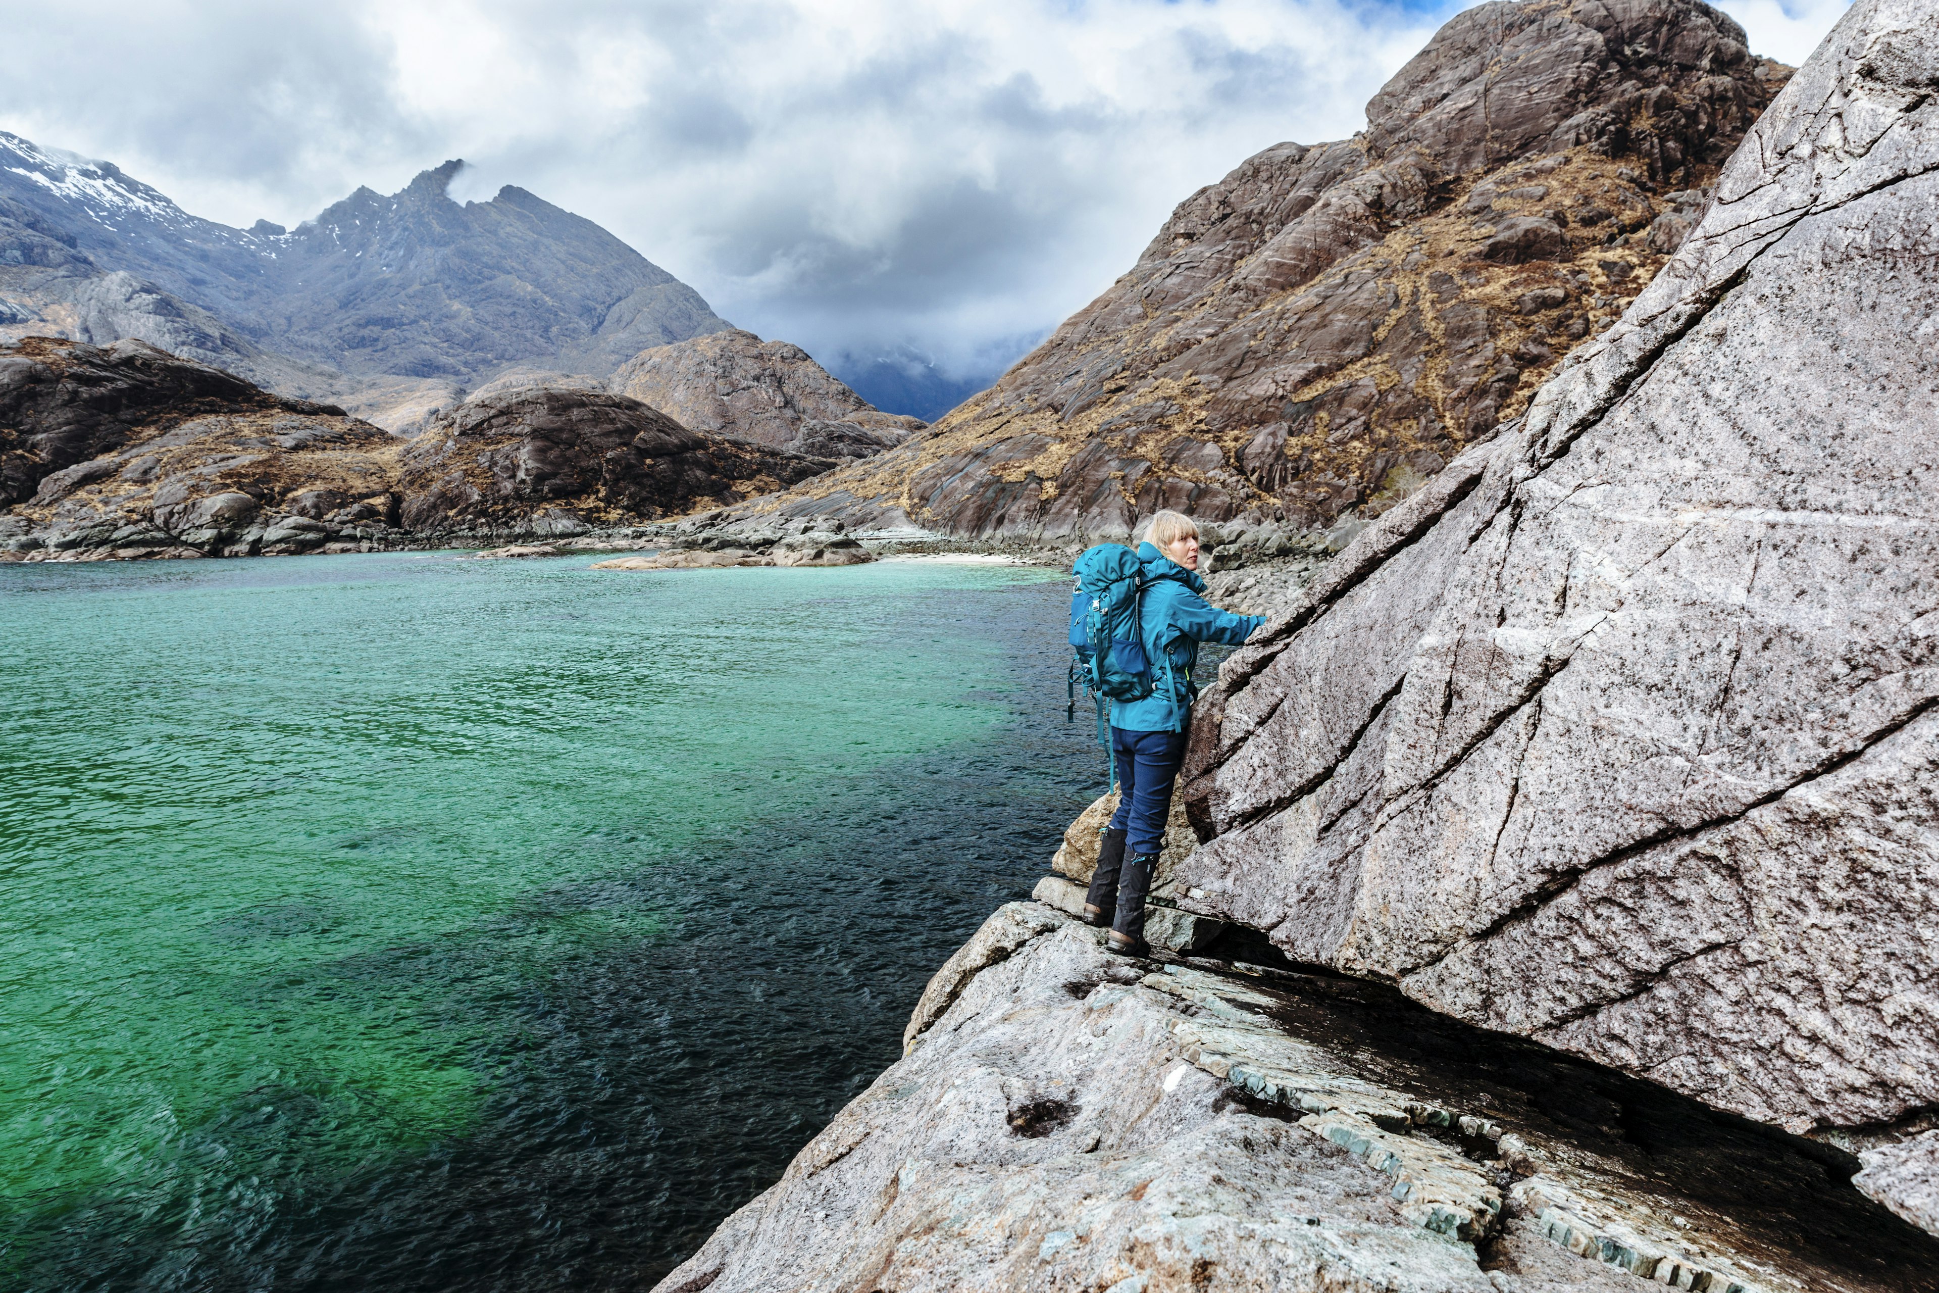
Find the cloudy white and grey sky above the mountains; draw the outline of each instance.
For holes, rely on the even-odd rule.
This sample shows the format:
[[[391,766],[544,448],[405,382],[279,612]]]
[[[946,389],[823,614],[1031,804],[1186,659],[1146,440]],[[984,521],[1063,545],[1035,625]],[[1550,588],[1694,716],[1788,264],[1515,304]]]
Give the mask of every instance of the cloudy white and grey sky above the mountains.
[[[1722,0],[1801,62],[1848,0]],[[1278,140],[1334,140],[1427,0],[0,0],[0,128],[231,225],[463,157],[832,366],[985,376]],[[843,363],[847,355],[847,363]]]

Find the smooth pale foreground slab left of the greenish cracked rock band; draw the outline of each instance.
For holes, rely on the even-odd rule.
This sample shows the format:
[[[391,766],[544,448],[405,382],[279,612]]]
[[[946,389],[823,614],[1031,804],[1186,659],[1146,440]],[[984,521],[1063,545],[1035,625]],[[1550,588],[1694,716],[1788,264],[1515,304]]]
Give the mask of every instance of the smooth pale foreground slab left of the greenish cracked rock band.
[[[1165,1041],[1173,1000],[1138,991],[1142,971],[1049,913],[1010,913],[911,1056],[663,1293],[1161,1293],[1194,1277],[1493,1293],[1472,1256],[1396,1215],[1384,1175],[1187,1062]]]

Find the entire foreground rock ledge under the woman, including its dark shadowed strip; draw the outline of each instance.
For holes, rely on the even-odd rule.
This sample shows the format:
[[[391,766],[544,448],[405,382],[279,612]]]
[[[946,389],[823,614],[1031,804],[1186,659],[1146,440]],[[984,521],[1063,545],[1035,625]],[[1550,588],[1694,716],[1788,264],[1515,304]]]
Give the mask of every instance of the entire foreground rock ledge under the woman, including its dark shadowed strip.
[[[1939,1289],[1854,1167],[1388,989],[1010,903],[659,1293]]]

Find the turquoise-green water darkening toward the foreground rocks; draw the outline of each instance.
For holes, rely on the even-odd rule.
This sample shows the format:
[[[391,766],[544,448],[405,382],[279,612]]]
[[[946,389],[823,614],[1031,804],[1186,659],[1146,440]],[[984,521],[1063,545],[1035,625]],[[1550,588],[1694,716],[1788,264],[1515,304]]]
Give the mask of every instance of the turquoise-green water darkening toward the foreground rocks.
[[[0,568],[0,1281],[640,1287],[1101,775],[1063,580]]]

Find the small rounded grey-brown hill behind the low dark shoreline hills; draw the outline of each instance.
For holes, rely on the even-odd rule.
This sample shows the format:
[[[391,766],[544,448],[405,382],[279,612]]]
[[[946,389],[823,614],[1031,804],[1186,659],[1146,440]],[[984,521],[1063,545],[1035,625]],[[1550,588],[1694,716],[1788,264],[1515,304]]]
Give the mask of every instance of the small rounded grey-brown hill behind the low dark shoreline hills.
[[[737,328],[642,351],[609,386],[683,426],[816,457],[871,457],[927,426],[878,411],[799,345]]]

